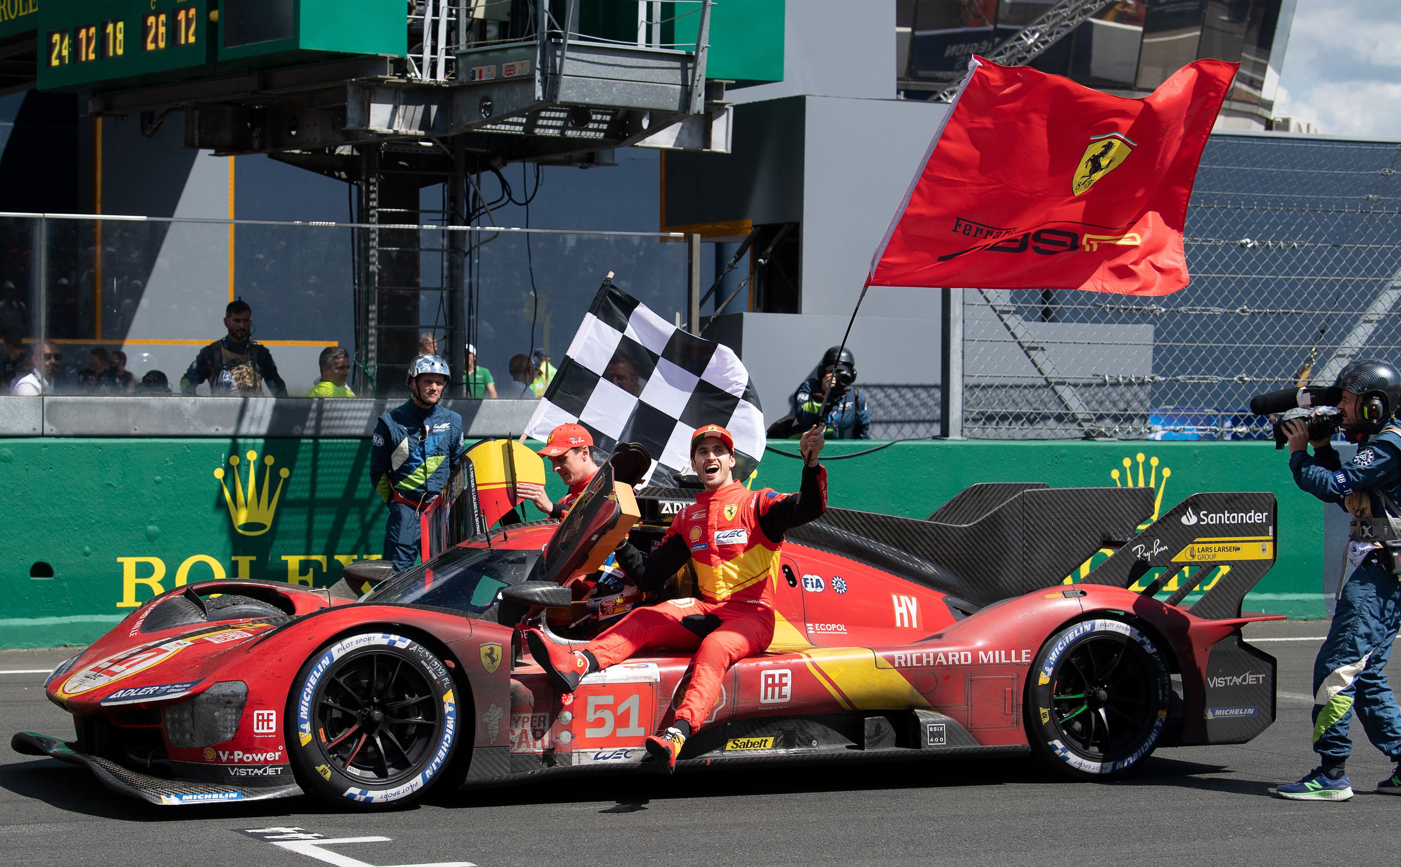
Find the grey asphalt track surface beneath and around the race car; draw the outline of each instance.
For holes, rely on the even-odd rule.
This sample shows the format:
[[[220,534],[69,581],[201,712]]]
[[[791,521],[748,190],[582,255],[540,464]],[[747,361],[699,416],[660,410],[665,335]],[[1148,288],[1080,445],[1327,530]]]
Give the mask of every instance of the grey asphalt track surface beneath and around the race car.
[[[1323,636],[1264,623],[1250,639]],[[1372,791],[1391,766],[1363,740],[1358,796],[1299,803],[1268,789],[1314,765],[1317,640],[1258,644],[1279,660],[1279,717],[1251,744],[1159,749],[1117,783],[1066,783],[1028,759],[775,768],[430,793],[408,810],[349,814],[311,798],[153,807],[87,770],[0,752],[0,863],[172,867],[402,864],[1338,864],[1395,859],[1401,797]],[[0,651],[0,671],[71,650]],[[0,733],[67,735],[43,675],[0,674]],[[1353,724],[1360,737],[1360,727]],[[8,737],[4,745],[8,744]],[[249,829],[273,829],[249,835]],[[265,838],[301,829],[322,845]],[[298,833],[298,832],[293,832]],[[305,852],[294,847],[303,846]]]

